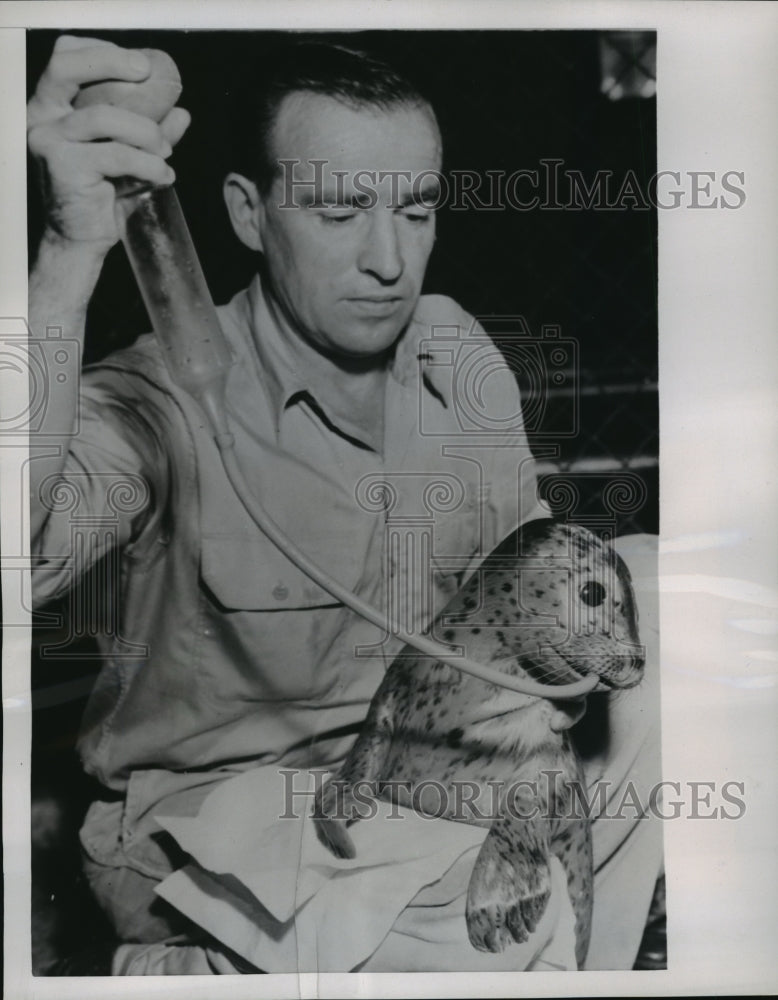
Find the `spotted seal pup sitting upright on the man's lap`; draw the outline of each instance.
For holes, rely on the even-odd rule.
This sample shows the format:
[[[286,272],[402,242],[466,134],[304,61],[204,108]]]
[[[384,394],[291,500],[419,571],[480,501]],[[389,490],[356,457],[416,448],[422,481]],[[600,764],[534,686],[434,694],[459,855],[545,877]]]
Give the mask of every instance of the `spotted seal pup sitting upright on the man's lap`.
[[[547,683],[594,673],[595,691],[608,691],[632,687],[643,672],[626,565],[586,528],[551,519],[509,535],[436,618],[433,633],[472,659]],[[552,728],[559,707],[406,647],[339,773],[319,790],[319,838],[337,856],[353,857],[346,827],[360,817],[366,793],[488,826],[466,907],[470,941],[488,952],[526,941],[537,926],[552,852],[567,874],[582,965],[591,833],[586,810],[574,808],[581,804],[575,784],[583,781],[578,756],[568,732]]]

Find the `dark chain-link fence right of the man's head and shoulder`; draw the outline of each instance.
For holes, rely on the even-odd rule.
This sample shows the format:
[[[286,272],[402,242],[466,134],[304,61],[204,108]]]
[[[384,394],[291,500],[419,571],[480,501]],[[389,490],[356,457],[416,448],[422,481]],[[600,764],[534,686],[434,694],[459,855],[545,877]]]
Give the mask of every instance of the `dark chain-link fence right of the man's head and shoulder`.
[[[424,79],[446,168],[484,183],[479,207],[441,213],[430,284],[503,349],[539,415],[530,441],[555,513],[656,533],[656,36],[486,32],[438,46],[446,57]],[[499,207],[481,207],[490,194]],[[545,349],[549,332],[573,350],[539,381],[524,345]]]

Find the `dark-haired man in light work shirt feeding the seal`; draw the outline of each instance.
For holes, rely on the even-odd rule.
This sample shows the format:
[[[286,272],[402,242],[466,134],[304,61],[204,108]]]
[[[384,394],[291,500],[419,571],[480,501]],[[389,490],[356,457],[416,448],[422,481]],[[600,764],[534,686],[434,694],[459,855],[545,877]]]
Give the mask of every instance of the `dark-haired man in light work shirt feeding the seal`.
[[[173,180],[165,159],[185,112],[156,125],[121,109],[72,107],[90,81],[148,72],[142,53],[64,37],[41,78],[29,136],[48,224],[30,279],[33,335],[56,325],[83,338],[103,258],[121,235],[111,180]],[[254,157],[227,176],[224,196],[235,233],[260,255],[259,273],[219,313],[236,359],[226,407],[238,459],[301,549],[369,603],[387,608],[402,595],[403,624],[420,630],[469,566],[543,514],[515,382],[496,349],[475,328],[497,370],[488,407],[513,417],[495,447],[463,435],[451,367],[429,363],[436,333],[450,341],[456,331],[456,353],[474,332],[451,300],[421,297],[441,167],[435,116],[381,63],[308,44],[279,60],[243,126],[256,137]],[[105,790],[81,841],[90,886],[123,942],[112,971],[235,971],[235,956],[156,897],[183,860],[156,818],[196,815],[251,768],[337,764],[400,643],[335,603],[258,532],[153,339],[87,372],[80,394],[53,389],[40,440],[77,431],[32,463],[38,598],[65,591],[106,551],[121,553],[121,643],[103,641],[79,745]],[[68,511],[53,499],[59,477],[104,525],[77,551]],[[371,492],[377,481],[386,503]],[[420,564],[388,540],[398,510],[419,521],[430,483],[456,502],[422,510],[422,520],[434,516],[431,559]],[[131,501],[115,502],[117,484]],[[403,537],[418,542],[403,523]],[[560,708],[555,724],[571,725],[581,710]],[[456,968],[450,943],[436,948],[423,933],[413,957],[398,957],[389,938],[382,947],[372,968]],[[485,967],[524,968],[539,950],[517,946]]]

